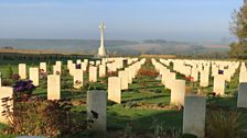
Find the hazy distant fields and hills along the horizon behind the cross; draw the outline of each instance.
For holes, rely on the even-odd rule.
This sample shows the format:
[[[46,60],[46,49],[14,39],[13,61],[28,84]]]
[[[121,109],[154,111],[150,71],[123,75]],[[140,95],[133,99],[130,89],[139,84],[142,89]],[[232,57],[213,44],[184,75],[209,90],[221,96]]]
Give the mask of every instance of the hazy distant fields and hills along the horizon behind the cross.
[[[28,54],[72,53],[95,55],[99,45],[98,39],[0,39],[0,47],[14,47],[18,51],[23,49],[22,51]],[[226,53],[229,50],[228,45],[167,41],[105,41],[105,47],[109,55],[115,56],[139,56],[141,54],[195,55],[215,51]]]

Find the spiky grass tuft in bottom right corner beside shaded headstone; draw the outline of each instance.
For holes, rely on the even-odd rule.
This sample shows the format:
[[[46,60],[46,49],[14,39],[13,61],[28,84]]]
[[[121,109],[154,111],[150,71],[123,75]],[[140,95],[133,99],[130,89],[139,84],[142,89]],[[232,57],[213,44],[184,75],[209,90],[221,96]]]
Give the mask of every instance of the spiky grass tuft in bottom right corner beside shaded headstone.
[[[237,138],[246,129],[245,124],[239,112],[213,111],[206,119],[206,135],[208,138]]]

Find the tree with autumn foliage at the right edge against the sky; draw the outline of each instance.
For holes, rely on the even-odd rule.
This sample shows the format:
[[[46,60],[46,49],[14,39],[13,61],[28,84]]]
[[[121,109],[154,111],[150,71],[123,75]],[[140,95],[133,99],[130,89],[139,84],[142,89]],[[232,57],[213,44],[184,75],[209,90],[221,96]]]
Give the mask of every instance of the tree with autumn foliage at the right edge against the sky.
[[[237,37],[237,42],[230,44],[230,57],[247,58],[247,4],[239,11],[234,11],[230,22],[230,32]]]

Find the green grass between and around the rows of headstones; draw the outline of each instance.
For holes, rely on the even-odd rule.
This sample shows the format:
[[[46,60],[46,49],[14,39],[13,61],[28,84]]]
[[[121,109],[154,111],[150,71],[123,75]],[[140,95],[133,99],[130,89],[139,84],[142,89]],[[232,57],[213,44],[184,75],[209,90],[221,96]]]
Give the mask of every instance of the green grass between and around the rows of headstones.
[[[0,66],[0,71],[3,73],[8,66]],[[154,69],[151,65],[146,65],[146,68]],[[18,67],[12,66],[14,72],[18,72]],[[72,81],[69,77],[63,77],[68,81]],[[237,76],[233,80],[238,79]],[[88,80],[88,74],[84,76],[84,82]],[[212,79],[210,84],[212,84]],[[194,85],[193,89],[197,89],[198,83],[187,83]],[[94,89],[107,90],[107,79],[99,78],[97,83],[94,83]],[[227,93],[234,93],[235,88],[226,88]],[[212,92],[213,88],[208,87],[204,89],[206,92]],[[63,99],[73,99],[73,101],[86,101],[87,89],[74,90],[62,89]],[[41,85],[35,89],[35,95],[46,97],[45,82],[41,81]],[[175,110],[159,110],[159,108],[141,108],[129,107],[127,105],[169,105],[170,104],[170,91],[165,90],[160,81],[155,80],[155,77],[137,77],[133,83],[129,85],[128,91],[121,93],[122,104],[111,104],[108,102],[107,106],[107,129],[109,131],[122,130],[127,125],[131,124],[133,131],[147,131],[151,130],[153,119],[164,123],[165,127],[182,128],[182,111]],[[237,100],[234,96],[226,97],[208,97],[207,105],[236,107]],[[73,108],[75,111],[86,111],[86,105],[79,105]],[[0,129],[2,126],[0,125]],[[4,136],[7,137],[7,136]],[[11,137],[11,136],[10,136]]]

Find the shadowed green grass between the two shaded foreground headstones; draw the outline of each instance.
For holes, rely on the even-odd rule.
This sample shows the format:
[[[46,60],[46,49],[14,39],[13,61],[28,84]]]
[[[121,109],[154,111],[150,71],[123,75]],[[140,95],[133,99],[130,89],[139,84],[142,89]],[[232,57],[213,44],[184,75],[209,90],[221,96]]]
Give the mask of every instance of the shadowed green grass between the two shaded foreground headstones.
[[[132,113],[135,116],[122,114]],[[152,130],[152,123],[158,119],[163,127],[167,128],[181,128],[183,122],[183,114],[181,111],[144,111],[124,108],[122,111],[108,112],[107,114],[107,129],[109,131],[122,130],[127,125],[132,127],[133,131],[147,131]]]

